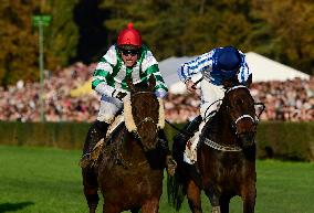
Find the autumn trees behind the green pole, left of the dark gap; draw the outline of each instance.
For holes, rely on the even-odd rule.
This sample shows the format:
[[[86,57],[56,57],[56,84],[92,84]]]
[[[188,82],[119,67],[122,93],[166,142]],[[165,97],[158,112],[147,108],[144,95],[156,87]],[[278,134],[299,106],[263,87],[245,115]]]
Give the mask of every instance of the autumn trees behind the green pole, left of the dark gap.
[[[44,29],[45,67],[65,66],[76,54],[77,26],[73,7],[77,0],[1,1],[0,4],[0,84],[7,86],[19,79],[38,81],[39,35],[32,24],[33,14],[51,14]]]

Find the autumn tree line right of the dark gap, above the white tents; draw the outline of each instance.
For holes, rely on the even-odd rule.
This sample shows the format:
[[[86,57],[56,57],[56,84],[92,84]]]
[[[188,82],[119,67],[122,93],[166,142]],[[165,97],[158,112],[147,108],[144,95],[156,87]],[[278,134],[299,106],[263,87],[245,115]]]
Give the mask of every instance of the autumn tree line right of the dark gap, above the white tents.
[[[313,74],[311,0],[106,0],[101,6],[111,11],[105,25],[112,33],[133,21],[159,61],[234,45]]]

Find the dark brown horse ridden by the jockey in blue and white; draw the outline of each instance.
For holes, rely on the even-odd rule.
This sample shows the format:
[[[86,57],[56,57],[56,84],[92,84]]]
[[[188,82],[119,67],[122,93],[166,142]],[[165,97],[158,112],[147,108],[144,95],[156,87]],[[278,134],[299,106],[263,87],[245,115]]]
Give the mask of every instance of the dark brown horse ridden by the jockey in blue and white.
[[[254,99],[245,86],[227,89],[217,113],[205,125],[191,166],[178,159],[182,151],[180,137],[175,137],[174,157],[178,162],[175,177],[168,182],[171,204],[179,210],[187,195],[190,210],[200,213],[200,192],[205,191],[212,213],[228,213],[234,195],[243,201],[243,213],[253,213],[255,205],[255,131],[258,119]],[[261,104],[263,106],[263,104]],[[263,109],[262,109],[263,110]]]

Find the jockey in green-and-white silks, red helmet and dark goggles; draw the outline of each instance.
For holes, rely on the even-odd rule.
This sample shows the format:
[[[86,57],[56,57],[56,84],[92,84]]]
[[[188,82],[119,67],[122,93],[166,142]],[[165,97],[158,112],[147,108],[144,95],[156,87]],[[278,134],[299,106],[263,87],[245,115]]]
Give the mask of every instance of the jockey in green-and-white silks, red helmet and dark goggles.
[[[97,120],[87,132],[80,161],[82,168],[91,166],[91,151],[106,136],[108,126],[123,108],[124,98],[128,98],[126,79],[132,78],[133,83],[137,84],[148,82],[150,75],[154,75],[156,79],[155,95],[164,98],[168,89],[159,72],[158,63],[148,47],[142,43],[139,32],[129,23],[127,29],[119,32],[117,43],[109,47],[94,71],[92,88],[102,95],[101,108]],[[170,155],[164,129],[159,130],[158,138],[159,142],[163,142],[160,147],[168,153],[167,171],[174,172],[176,161]]]

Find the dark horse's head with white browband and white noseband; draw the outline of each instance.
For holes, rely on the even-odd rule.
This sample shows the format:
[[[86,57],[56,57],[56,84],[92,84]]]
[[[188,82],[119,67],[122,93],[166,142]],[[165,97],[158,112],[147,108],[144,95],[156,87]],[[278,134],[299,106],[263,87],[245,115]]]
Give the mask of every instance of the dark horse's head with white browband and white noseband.
[[[259,116],[255,115],[255,103],[248,87],[240,85],[227,89],[221,107],[229,116],[241,146],[254,145]]]

